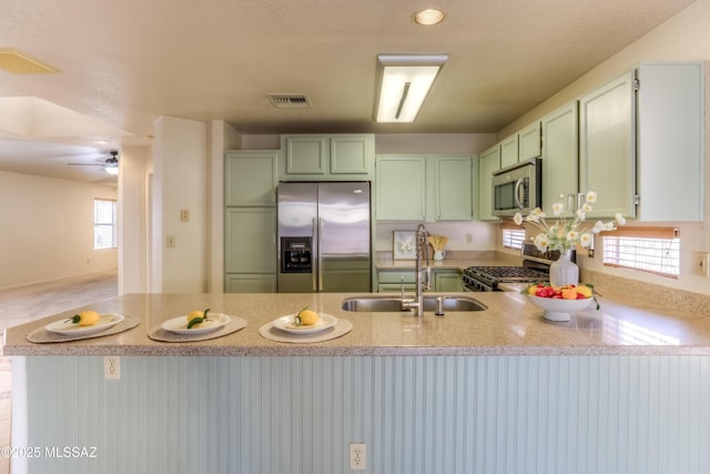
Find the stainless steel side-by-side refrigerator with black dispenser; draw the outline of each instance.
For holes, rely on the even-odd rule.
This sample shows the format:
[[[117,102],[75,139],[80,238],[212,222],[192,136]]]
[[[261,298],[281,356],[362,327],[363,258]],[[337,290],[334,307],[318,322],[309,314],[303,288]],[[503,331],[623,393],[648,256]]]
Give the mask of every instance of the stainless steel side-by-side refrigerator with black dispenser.
[[[278,292],[372,290],[369,182],[278,185]]]

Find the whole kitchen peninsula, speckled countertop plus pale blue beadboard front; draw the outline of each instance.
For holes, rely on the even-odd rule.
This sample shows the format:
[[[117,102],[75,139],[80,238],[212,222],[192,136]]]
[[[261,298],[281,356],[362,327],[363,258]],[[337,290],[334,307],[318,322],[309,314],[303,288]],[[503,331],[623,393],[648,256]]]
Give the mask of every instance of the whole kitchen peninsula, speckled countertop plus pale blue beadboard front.
[[[485,311],[355,313],[353,294],[126,294],[91,307],[140,324],[91,340],[8,330],[27,387],[27,446],[97,458],[26,460],[30,472],[547,473],[710,470],[710,319],[601,300],[551,323],[518,293],[467,293]],[[347,334],[280,343],[258,330],[304,305]],[[194,309],[243,317],[224,337],[153,341]],[[102,355],[120,355],[104,380]],[[24,374],[27,379],[24,380]],[[22,404],[18,400],[18,404]]]

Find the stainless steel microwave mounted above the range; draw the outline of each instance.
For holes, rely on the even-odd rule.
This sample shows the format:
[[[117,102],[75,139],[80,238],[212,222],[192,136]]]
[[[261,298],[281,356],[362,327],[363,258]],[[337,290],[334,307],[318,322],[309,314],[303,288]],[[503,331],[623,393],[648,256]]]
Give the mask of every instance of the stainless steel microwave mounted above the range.
[[[493,173],[493,214],[511,216],[542,205],[542,160],[532,158]]]

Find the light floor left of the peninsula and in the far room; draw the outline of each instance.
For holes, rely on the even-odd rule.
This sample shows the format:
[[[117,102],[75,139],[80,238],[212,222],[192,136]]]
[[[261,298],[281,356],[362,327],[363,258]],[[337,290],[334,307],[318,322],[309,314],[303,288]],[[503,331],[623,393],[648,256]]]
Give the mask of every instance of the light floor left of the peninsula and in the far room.
[[[0,331],[118,294],[115,270],[0,290]],[[2,355],[0,341],[0,446],[11,444],[12,357]],[[10,460],[0,457],[0,474]]]

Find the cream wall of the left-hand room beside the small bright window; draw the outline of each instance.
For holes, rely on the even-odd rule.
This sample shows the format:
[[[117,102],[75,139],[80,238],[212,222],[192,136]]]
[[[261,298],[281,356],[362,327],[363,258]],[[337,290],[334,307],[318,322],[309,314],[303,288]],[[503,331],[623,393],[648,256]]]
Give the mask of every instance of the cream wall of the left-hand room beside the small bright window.
[[[0,288],[115,269],[93,249],[93,201],[116,189],[0,171]]]

